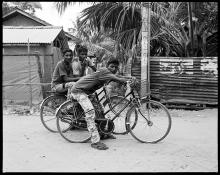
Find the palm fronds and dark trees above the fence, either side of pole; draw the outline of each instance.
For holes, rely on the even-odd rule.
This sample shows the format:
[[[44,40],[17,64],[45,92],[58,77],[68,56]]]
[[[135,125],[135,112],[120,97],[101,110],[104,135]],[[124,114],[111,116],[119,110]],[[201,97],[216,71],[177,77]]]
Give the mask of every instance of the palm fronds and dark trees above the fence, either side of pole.
[[[75,3],[57,4],[62,12]],[[191,2],[191,5],[193,25],[190,28],[187,2],[152,3],[151,56],[216,56],[217,41],[213,36],[217,35],[218,3]],[[137,52],[141,44],[140,2],[94,2],[82,11],[79,26],[82,31],[86,28],[104,33],[117,41],[117,48],[140,54]],[[190,37],[191,29],[194,38]]]

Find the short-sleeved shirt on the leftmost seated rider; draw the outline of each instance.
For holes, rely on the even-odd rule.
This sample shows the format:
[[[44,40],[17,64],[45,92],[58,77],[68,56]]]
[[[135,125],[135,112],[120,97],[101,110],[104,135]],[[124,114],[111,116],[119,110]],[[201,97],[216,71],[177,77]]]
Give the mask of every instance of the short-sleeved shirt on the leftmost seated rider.
[[[54,69],[51,86],[64,83],[64,76],[73,77],[73,70],[71,64],[67,65],[64,60],[61,60]]]

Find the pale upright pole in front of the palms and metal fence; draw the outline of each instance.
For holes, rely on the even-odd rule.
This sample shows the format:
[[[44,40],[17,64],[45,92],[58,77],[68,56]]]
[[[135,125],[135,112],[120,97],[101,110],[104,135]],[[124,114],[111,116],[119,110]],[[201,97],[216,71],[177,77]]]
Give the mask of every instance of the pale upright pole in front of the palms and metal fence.
[[[142,43],[141,43],[141,97],[150,92],[150,2],[141,3]]]

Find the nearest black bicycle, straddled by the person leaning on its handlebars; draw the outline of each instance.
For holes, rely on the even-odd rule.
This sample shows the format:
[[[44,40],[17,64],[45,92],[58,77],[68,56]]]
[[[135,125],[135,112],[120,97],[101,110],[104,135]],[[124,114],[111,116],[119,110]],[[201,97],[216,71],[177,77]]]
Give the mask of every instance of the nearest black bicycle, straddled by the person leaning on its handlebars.
[[[120,116],[122,111],[129,108],[123,123],[125,131],[119,134],[130,133],[133,138],[142,143],[157,143],[163,140],[169,134],[172,123],[168,109],[160,102],[151,100],[150,94],[140,99],[137,86],[131,87],[131,84],[128,83],[128,87],[130,87],[130,92],[120,100],[118,99],[118,102],[113,104],[109,101],[109,109],[101,114],[105,118],[95,119],[99,133],[114,133],[116,123],[114,120]],[[105,86],[103,91],[106,98],[109,99]],[[123,105],[120,110],[115,111],[116,107],[121,104]],[[96,114],[99,113],[96,108],[95,112]],[[114,115],[107,116],[109,112],[114,113]],[[90,140],[84,118],[85,113],[76,100],[67,100],[61,104],[56,111],[56,117],[57,129],[64,139],[71,143],[84,143]]]

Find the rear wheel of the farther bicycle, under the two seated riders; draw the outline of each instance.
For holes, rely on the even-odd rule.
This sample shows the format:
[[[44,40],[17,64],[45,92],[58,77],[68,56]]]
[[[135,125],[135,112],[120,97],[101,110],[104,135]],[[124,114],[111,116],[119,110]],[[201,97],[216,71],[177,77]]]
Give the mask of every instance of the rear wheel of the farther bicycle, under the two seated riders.
[[[50,95],[40,105],[40,119],[43,126],[50,132],[58,132],[56,126],[56,109],[66,101],[64,95]]]

